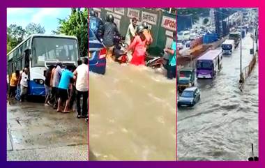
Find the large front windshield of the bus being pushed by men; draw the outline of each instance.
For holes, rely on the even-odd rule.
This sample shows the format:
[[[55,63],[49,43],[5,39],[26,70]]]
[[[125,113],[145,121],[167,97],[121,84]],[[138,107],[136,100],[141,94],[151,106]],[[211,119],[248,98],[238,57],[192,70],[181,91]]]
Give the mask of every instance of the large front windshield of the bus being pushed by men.
[[[77,40],[73,38],[37,37],[32,43],[32,66],[45,61],[77,61]]]

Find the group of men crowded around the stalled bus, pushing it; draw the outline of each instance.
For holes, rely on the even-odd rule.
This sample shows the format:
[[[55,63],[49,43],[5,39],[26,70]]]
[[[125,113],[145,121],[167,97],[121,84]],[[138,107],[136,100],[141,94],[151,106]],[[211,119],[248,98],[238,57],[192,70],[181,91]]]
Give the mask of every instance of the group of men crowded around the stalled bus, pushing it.
[[[89,60],[77,61],[78,66],[63,67],[61,62],[51,65],[45,73],[45,106],[52,106],[56,112],[75,111],[77,118],[88,118]],[[15,70],[10,78],[8,100],[23,101],[27,96],[29,68],[23,72]],[[81,98],[82,108],[81,108]],[[64,104],[64,105],[63,105]]]

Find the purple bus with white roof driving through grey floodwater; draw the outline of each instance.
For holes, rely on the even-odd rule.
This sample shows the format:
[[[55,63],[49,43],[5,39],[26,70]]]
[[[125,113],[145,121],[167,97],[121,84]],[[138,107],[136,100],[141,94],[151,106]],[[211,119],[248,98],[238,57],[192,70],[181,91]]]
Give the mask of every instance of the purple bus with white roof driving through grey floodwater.
[[[222,68],[222,51],[220,49],[209,50],[197,59],[197,78],[213,78]]]

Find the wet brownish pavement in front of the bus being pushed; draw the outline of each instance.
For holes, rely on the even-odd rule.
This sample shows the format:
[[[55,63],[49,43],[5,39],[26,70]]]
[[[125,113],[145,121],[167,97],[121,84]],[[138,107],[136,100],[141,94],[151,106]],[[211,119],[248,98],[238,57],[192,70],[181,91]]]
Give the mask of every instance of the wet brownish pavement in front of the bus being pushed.
[[[8,160],[88,160],[88,125],[39,102],[8,105]]]

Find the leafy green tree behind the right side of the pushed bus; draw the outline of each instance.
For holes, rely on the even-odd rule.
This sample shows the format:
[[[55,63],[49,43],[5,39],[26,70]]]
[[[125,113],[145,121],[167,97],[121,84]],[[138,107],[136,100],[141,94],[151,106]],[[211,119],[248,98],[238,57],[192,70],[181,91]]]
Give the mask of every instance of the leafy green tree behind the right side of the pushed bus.
[[[59,19],[59,27],[53,33],[63,33],[67,36],[76,36],[79,43],[80,56],[88,55],[88,9],[72,8],[70,16]]]

